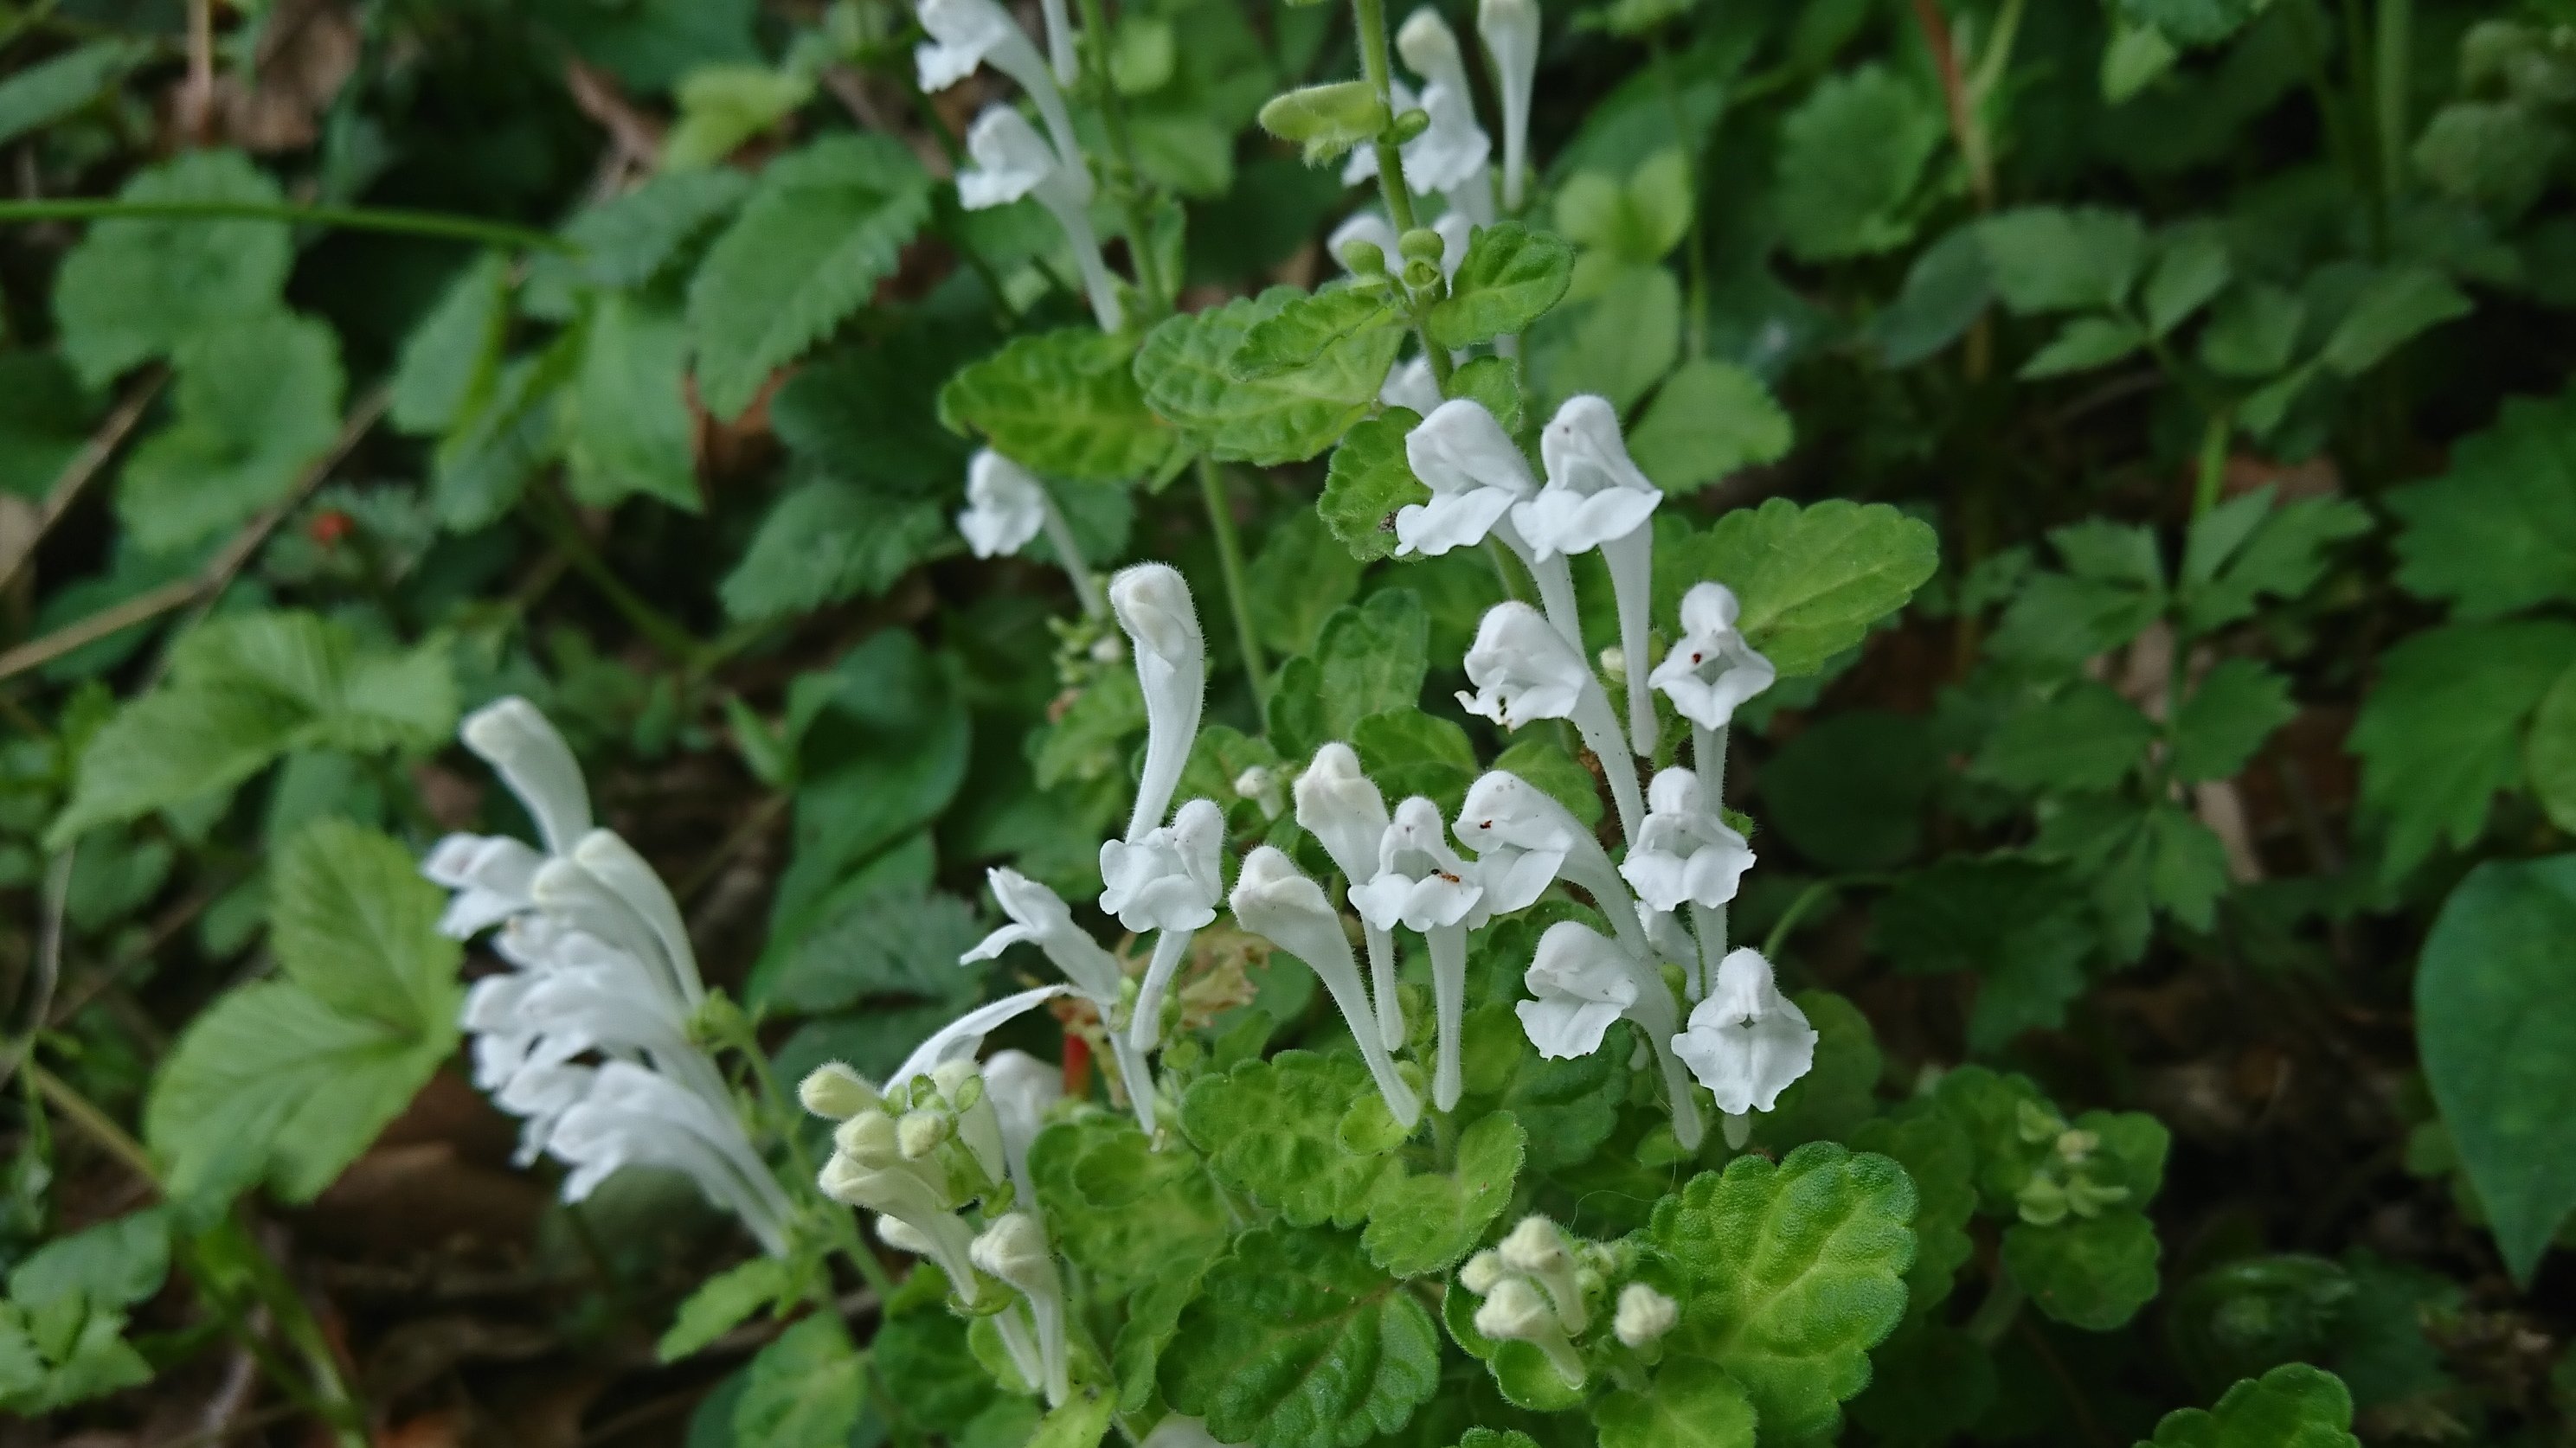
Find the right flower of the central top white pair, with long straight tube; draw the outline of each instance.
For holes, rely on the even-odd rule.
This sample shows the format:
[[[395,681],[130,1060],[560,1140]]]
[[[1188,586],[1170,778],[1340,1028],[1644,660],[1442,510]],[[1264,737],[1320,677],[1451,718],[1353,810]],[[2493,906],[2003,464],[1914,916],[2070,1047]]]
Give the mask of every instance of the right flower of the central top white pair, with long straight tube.
[[[1628,461],[1618,410],[1602,397],[1569,397],[1538,435],[1548,484],[1512,508],[1512,526],[1538,557],[1602,551],[1618,598],[1618,642],[1628,660],[1646,660],[1646,624],[1654,605],[1654,515],[1664,492]],[[1628,667],[1628,729],[1636,752],[1654,757],[1654,693],[1646,675]]]

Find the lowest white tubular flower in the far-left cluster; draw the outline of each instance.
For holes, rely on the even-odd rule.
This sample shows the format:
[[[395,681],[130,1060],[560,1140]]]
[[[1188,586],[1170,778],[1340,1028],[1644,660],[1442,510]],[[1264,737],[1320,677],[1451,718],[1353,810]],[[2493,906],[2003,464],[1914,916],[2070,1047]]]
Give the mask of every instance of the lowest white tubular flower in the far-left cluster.
[[[786,1252],[788,1196],[752,1152],[742,1123],[696,1092],[631,1062],[600,1067],[590,1090],[564,1108],[546,1152],[572,1167],[564,1201],[582,1201],[626,1165],[685,1172],[708,1203],[721,1206],[773,1252]]]

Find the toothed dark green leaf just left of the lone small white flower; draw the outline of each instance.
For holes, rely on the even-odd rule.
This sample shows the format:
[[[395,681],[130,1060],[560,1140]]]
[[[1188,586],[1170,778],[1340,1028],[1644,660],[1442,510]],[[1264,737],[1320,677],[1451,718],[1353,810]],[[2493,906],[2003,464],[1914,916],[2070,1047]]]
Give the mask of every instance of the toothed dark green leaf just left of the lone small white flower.
[[[876,598],[948,544],[948,515],[935,502],[889,505],[866,487],[824,477],[770,505],[716,593],[732,618],[791,618]]]

